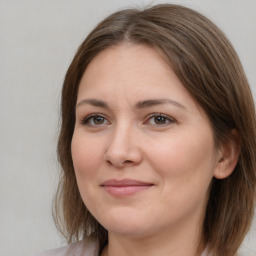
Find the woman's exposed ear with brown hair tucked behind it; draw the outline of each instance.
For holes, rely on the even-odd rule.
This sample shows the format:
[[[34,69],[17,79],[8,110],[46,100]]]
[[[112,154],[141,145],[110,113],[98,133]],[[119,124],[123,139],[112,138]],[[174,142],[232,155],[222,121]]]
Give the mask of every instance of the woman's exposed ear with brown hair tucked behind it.
[[[217,166],[214,170],[216,179],[225,179],[234,171],[240,154],[240,138],[237,130],[230,132],[229,139],[224,142],[219,151]]]

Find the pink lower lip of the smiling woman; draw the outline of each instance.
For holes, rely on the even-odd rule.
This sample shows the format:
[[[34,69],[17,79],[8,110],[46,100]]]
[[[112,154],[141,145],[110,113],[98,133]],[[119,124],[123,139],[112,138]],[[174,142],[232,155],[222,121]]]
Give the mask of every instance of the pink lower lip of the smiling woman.
[[[138,192],[151,188],[152,185],[145,186],[103,186],[103,188],[113,196],[130,196]]]

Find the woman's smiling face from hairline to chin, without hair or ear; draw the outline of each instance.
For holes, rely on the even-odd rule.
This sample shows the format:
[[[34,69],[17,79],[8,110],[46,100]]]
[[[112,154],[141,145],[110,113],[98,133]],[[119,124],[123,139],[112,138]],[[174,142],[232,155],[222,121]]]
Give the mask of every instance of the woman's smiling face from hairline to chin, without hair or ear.
[[[218,159],[203,110],[145,45],[102,51],[78,92],[72,158],[82,199],[112,234],[200,228]]]

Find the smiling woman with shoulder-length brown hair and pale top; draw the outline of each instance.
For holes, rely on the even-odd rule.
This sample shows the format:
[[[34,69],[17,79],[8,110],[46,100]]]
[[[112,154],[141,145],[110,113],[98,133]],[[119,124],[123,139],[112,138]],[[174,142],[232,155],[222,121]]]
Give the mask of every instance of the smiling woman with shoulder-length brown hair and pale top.
[[[255,110],[211,21],[171,4],[114,13],[79,47],[61,108],[55,221],[76,243],[42,255],[237,254]]]

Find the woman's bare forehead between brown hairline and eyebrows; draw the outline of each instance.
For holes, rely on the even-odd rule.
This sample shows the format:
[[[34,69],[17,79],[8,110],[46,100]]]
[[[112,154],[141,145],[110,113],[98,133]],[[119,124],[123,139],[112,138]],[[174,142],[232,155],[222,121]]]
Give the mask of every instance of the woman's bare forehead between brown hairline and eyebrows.
[[[170,97],[187,109],[198,108],[159,51],[144,44],[124,43],[100,52],[79,85],[77,101],[86,97],[110,102]]]

